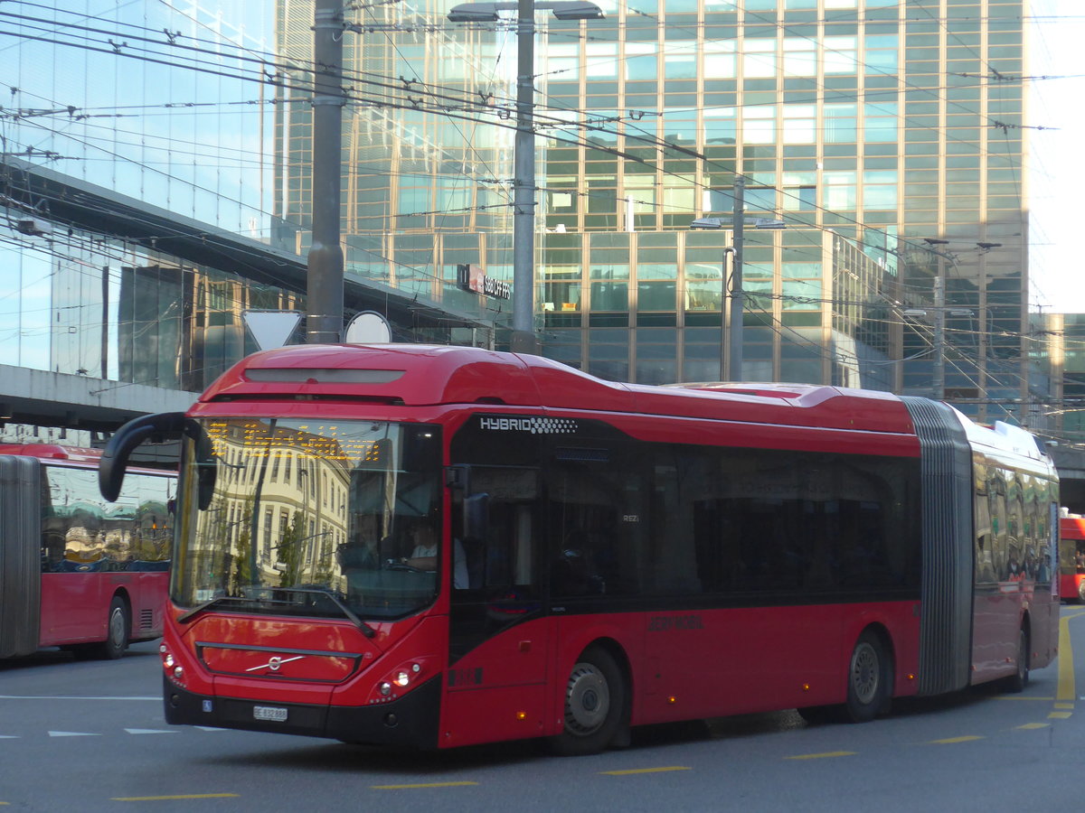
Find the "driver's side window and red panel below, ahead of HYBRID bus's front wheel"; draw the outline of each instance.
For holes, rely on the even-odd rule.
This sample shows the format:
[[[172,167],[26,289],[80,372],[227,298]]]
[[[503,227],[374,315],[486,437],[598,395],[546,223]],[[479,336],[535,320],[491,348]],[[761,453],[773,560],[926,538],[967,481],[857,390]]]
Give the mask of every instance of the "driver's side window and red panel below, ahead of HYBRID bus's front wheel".
[[[452,555],[465,567],[454,567],[441,744],[538,736],[551,638],[539,592],[538,469],[450,474]]]

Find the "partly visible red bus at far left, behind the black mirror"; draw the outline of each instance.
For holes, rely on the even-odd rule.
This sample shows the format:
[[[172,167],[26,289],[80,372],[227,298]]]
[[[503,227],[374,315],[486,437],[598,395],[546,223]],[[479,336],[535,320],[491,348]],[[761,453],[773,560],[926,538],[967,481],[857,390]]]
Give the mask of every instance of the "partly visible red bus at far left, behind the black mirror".
[[[0,444],[0,658],[60,646],[119,658],[162,635],[176,473],[98,489],[101,452]]]

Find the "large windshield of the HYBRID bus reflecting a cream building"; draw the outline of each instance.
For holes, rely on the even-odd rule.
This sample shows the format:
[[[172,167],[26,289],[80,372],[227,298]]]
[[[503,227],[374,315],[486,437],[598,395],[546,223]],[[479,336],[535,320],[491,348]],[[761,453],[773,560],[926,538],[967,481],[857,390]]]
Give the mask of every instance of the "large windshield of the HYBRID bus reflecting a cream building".
[[[437,591],[439,428],[203,418],[184,440],[173,601],[189,608],[399,618]]]

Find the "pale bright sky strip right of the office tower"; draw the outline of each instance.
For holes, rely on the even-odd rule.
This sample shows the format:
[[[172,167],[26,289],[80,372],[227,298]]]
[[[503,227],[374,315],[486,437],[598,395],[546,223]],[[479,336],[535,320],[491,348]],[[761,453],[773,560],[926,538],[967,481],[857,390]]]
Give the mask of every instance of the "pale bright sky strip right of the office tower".
[[[1085,313],[1085,0],[1032,0],[1031,308]]]

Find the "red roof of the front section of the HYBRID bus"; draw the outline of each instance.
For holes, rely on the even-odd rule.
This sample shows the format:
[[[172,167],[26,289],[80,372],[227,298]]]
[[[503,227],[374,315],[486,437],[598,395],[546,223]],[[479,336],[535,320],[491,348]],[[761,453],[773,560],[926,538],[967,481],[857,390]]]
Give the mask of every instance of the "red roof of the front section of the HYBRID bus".
[[[269,398],[537,406],[915,434],[903,402],[889,392],[809,384],[621,384],[538,356],[455,346],[266,350],[230,367],[200,403]]]

